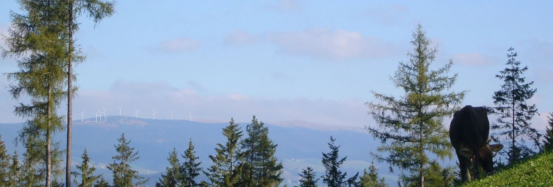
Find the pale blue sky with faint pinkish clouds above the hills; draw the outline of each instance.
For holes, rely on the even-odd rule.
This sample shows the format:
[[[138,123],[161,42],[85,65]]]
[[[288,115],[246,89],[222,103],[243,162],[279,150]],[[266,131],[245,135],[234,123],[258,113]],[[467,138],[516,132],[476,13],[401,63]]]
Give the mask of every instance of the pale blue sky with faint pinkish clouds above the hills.
[[[534,81],[544,129],[553,112],[551,1],[119,1],[96,27],[82,15],[75,34],[87,55],[75,67],[73,116],[107,115],[248,122],[304,120],[375,125],[367,114],[371,91],[403,95],[389,76],[413,51],[421,24],[439,50],[432,67],[453,66],[451,90],[469,90],[462,105],[493,106],[513,47],[526,81]],[[2,1],[6,33],[15,1]],[[4,41],[0,45],[6,46]],[[0,59],[0,72],[17,71]],[[21,122],[0,77],[0,123]],[[66,110],[65,106],[61,106]],[[103,110],[102,110],[103,111]],[[61,112],[65,113],[65,112]],[[491,117],[493,118],[493,117]],[[446,124],[448,126],[448,124]]]

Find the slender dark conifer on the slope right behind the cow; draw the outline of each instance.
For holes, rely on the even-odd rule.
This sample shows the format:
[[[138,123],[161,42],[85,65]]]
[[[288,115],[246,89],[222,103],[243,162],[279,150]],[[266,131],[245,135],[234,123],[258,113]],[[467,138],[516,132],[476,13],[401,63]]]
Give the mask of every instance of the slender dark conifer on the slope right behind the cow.
[[[501,75],[495,75],[504,81],[501,90],[493,93],[492,113],[498,116],[496,123],[490,126],[490,138],[495,142],[509,142],[509,149],[503,149],[500,155],[507,156],[508,163],[513,163],[524,157],[529,157],[535,152],[525,146],[525,139],[534,141],[535,148],[540,148],[539,139],[541,134],[530,126],[530,120],[538,114],[536,105],[528,105],[526,100],[534,96],[537,89],[531,89],[534,81],[525,84],[525,77],[522,77],[528,66],[520,67],[520,61],[515,60],[518,56],[509,48],[508,61],[504,70],[499,71]],[[539,115],[539,114],[538,114]]]

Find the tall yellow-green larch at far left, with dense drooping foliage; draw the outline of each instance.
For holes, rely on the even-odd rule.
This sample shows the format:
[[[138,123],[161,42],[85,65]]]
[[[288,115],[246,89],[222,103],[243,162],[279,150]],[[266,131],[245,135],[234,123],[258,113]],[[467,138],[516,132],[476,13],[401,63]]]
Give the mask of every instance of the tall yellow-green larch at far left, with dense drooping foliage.
[[[22,95],[32,98],[30,105],[19,103],[15,115],[28,118],[19,139],[25,144],[29,133],[40,134],[45,140],[45,186],[51,185],[53,175],[52,136],[62,131],[61,117],[56,114],[64,95],[66,79],[63,60],[66,57],[64,27],[60,21],[65,16],[59,12],[59,2],[18,1],[25,14],[11,12],[12,25],[9,37],[3,36],[8,49],[3,49],[2,57],[17,58],[19,71],[7,73],[12,97],[18,100]],[[32,131],[32,132],[31,132]],[[57,173],[54,173],[57,174]]]

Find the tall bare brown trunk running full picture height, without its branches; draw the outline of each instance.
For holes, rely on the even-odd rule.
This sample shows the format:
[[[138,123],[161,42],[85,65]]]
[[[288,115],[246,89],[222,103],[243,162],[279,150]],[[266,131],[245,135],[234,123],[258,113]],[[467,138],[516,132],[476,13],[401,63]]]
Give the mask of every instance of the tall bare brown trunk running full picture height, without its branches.
[[[73,112],[73,1],[69,1],[69,55],[67,58],[67,154],[65,159],[65,186],[71,187],[71,121]]]

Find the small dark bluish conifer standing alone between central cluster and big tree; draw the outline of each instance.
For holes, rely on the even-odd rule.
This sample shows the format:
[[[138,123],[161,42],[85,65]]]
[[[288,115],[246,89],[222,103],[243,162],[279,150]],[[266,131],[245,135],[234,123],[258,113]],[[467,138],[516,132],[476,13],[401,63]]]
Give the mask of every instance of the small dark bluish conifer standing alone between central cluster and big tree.
[[[334,145],[334,139],[330,137],[330,143],[328,148],[330,148],[329,153],[322,153],[322,165],[325,167],[325,175],[322,175],[322,182],[325,183],[328,187],[342,187],[354,183],[354,180],[357,179],[359,173],[354,175],[352,178],[346,179],[347,172],[342,174],[342,171],[338,168],[346,161],[347,157],[340,158],[340,146]]]

